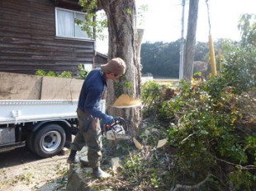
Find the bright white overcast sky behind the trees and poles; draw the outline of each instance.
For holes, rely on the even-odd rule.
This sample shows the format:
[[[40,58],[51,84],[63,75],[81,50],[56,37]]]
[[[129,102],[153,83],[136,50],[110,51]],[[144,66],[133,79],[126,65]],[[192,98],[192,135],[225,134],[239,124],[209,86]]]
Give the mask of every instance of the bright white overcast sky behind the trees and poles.
[[[135,0],[136,6],[147,4],[144,23],[138,28],[145,30],[142,43],[173,42],[182,36],[183,0]],[[188,2],[185,3],[184,37],[187,34]],[[239,16],[244,13],[256,14],[256,0],[208,0],[211,31],[209,31],[206,0],[199,0],[197,19],[197,41],[207,42],[227,38],[240,40],[237,28]],[[210,33],[209,33],[210,32]],[[97,40],[97,51],[107,53],[107,39]]]

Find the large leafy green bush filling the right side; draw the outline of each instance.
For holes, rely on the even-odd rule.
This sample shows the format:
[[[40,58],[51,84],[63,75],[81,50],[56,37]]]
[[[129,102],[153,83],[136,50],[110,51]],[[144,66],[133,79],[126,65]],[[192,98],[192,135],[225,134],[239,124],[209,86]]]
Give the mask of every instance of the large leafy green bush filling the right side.
[[[162,86],[144,86],[145,116],[169,123],[168,142],[176,156],[168,177],[173,188],[256,188],[255,55],[250,44],[232,49],[220,76],[182,81],[178,95],[169,99]]]

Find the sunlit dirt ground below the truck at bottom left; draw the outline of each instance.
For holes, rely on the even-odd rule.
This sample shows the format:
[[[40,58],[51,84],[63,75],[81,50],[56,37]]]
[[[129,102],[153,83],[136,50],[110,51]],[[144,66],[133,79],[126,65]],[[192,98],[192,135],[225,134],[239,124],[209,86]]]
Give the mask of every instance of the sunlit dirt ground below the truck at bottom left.
[[[0,153],[0,191],[65,190],[68,151],[41,159],[27,147]]]

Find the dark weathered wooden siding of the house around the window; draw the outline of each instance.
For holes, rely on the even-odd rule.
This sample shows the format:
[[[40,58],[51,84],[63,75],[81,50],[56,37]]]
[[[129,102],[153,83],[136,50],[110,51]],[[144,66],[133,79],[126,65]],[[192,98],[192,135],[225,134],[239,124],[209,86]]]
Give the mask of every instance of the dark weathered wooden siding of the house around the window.
[[[0,72],[71,71],[93,64],[94,41],[55,37],[55,2],[0,1]]]

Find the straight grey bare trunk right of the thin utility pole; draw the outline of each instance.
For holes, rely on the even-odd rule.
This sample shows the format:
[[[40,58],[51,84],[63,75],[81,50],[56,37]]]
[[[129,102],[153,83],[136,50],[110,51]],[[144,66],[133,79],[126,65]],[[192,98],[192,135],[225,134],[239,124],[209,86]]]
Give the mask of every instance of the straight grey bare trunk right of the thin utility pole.
[[[192,77],[193,62],[195,57],[198,2],[199,0],[189,1],[187,40],[184,62],[184,79],[188,81],[190,81]]]

